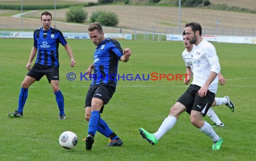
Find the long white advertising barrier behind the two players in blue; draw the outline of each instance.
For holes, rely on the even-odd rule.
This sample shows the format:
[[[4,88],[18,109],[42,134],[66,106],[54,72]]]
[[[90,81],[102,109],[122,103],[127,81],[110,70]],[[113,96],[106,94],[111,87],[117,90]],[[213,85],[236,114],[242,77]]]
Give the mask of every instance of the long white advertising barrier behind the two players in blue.
[[[65,38],[73,39],[90,39],[88,33],[66,33],[62,32]],[[105,37],[108,38],[118,38],[131,40],[132,34],[105,34]],[[33,38],[33,32],[9,32],[9,31],[0,31],[0,38]]]

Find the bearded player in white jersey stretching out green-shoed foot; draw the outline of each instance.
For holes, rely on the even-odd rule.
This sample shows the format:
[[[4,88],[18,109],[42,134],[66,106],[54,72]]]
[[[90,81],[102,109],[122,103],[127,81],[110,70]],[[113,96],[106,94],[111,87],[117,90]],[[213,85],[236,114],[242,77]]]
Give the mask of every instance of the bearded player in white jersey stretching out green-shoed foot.
[[[193,81],[185,93],[171,107],[168,117],[164,119],[158,131],[150,133],[140,127],[139,132],[150,144],[157,144],[158,140],[174,127],[180,114],[187,111],[190,114],[190,123],[205,135],[211,137],[212,150],[218,150],[221,148],[223,140],[202,117],[206,115],[211,107],[217,91],[217,75],[221,71],[219,58],[215,47],[203,39],[202,27],[199,23],[187,23],[185,34],[190,44],[195,44],[191,52],[193,55]],[[191,76],[192,74],[187,78],[190,79]]]

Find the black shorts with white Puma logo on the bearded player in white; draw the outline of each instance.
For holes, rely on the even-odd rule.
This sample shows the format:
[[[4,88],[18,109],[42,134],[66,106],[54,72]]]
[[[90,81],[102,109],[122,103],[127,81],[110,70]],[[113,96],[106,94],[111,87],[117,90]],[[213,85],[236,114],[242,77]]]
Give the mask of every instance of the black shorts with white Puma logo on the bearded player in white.
[[[187,113],[191,113],[191,110],[199,111],[203,114],[203,117],[207,114],[208,109],[212,106],[215,98],[215,93],[209,90],[206,96],[199,97],[198,91],[201,87],[198,85],[190,85],[189,88],[179,97],[177,102],[180,102],[187,108]]]

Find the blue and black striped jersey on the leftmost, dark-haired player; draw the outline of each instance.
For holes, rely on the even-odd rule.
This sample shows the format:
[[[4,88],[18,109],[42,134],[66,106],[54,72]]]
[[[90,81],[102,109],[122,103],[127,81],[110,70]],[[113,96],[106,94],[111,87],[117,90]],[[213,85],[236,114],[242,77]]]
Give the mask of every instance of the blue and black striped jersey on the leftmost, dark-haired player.
[[[59,43],[67,44],[60,30],[50,27],[44,31],[43,27],[34,31],[34,47],[37,48],[35,63],[59,67]]]

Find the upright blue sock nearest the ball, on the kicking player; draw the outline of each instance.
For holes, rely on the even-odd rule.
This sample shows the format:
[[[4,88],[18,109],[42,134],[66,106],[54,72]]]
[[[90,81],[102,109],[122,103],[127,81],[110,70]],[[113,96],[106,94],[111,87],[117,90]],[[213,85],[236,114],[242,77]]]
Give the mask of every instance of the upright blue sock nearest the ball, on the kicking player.
[[[100,111],[92,111],[88,125],[88,135],[92,135],[94,137],[100,124],[100,119]]]

